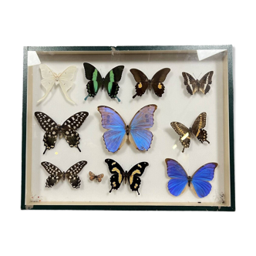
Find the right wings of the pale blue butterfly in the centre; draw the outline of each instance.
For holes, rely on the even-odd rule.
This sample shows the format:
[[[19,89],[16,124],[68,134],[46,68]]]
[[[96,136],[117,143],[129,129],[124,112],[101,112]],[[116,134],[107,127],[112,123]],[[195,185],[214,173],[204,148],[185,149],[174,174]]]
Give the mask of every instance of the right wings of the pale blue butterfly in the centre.
[[[137,150],[149,150],[153,134],[148,128],[153,126],[153,113],[157,105],[147,105],[140,109],[129,126],[129,140]]]

